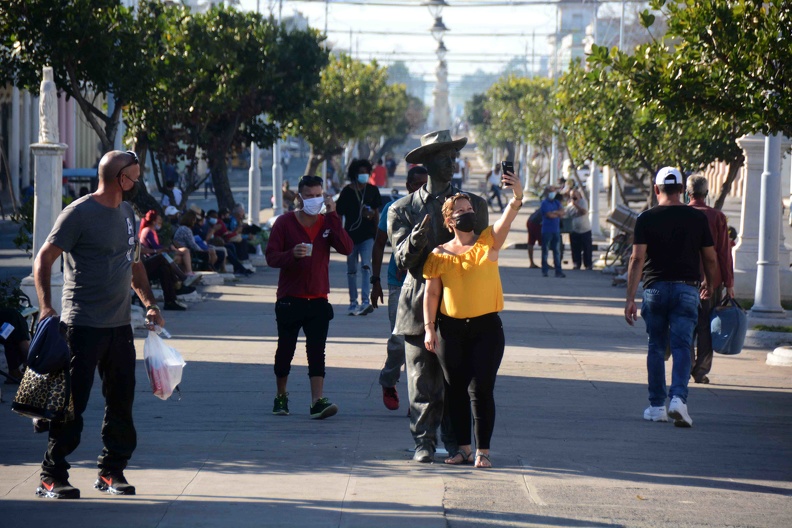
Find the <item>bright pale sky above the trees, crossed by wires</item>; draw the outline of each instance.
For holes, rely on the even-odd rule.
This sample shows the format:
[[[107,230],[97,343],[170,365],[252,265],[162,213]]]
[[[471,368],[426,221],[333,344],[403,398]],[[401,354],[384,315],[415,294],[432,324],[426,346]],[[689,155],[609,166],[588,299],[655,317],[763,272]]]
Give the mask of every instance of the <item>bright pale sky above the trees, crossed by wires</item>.
[[[255,10],[256,3],[256,0],[242,0],[240,7]],[[387,3],[387,0],[374,3]],[[352,55],[361,60],[377,58],[381,64],[388,64],[388,59],[405,60],[413,74],[424,74],[426,80],[433,80],[437,42],[429,28],[434,19],[428,8],[421,6],[421,0],[393,0],[393,3],[412,5],[343,5],[331,1],[327,17],[330,42],[336,48],[349,50],[351,41]],[[446,61],[452,82],[478,69],[497,73],[515,56],[530,59],[532,50],[535,50],[538,66],[539,55],[549,51],[547,33],[555,31],[556,9],[553,5],[466,7],[460,0],[447,0],[447,3],[449,6],[443,9],[442,18],[450,30],[444,43],[449,50]],[[277,16],[277,1],[260,0],[259,4],[262,13],[269,13],[272,7]],[[324,30],[324,2],[284,0],[282,4],[284,17],[299,11],[308,18],[312,27]],[[394,32],[402,34],[388,34]],[[532,32],[536,33],[535,37]],[[511,34],[525,36],[509,36]]]

